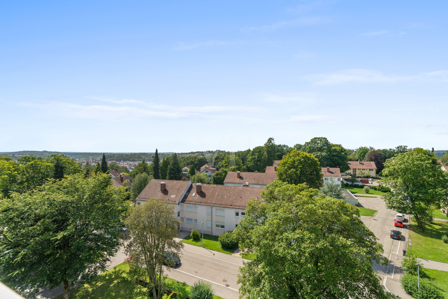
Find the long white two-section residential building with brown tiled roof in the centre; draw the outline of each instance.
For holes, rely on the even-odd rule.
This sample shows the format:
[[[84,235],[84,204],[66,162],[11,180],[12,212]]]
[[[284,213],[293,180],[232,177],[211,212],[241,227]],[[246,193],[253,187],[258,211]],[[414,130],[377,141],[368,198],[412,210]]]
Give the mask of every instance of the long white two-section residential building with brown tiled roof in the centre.
[[[246,205],[260,199],[262,188],[192,184],[187,181],[151,180],[138,195],[136,204],[159,199],[172,204],[181,221],[181,230],[197,229],[220,235],[233,231],[246,216]],[[202,223],[203,222],[203,223]]]

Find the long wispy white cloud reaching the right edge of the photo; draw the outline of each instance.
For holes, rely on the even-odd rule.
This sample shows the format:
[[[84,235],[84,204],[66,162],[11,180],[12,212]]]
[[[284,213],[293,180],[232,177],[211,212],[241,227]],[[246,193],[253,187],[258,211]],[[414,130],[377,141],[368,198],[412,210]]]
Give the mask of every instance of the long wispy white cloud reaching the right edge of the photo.
[[[448,71],[440,70],[431,73],[422,73],[416,75],[395,75],[383,74],[374,69],[344,69],[334,73],[313,74],[303,77],[315,84],[329,85],[346,82],[399,82],[409,80],[427,80],[427,81],[448,81]]]

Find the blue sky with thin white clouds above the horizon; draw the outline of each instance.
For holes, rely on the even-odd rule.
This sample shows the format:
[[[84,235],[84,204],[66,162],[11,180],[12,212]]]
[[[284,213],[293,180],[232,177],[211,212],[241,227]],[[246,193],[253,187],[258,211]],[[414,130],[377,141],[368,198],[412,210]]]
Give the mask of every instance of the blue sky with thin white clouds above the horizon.
[[[448,149],[447,1],[2,1],[0,151]]]

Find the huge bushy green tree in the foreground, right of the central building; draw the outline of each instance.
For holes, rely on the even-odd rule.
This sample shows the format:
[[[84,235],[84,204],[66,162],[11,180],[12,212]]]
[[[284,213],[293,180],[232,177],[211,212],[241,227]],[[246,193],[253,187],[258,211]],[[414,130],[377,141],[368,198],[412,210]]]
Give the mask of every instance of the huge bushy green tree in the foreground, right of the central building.
[[[280,181],[262,198],[248,203],[233,232],[240,250],[256,256],[240,268],[241,297],[388,298],[372,269],[387,263],[383,247],[356,207]]]

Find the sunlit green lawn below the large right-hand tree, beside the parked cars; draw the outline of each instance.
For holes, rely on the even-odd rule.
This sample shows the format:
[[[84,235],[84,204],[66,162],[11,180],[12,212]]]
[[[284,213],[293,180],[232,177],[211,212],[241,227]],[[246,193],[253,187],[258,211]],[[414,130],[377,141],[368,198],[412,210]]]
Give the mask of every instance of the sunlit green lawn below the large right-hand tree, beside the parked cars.
[[[448,222],[434,221],[427,225],[425,232],[422,233],[417,228],[414,217],[412,217],[409,230],[409,238],[412,240],[412,253],[422,259],[448,263],[448,244],[442,242],[443,234],[448,235]]]

